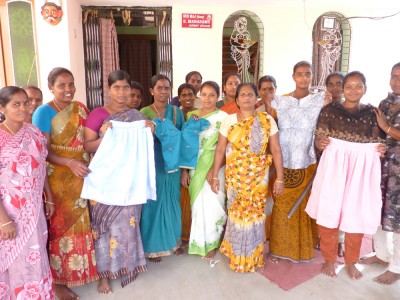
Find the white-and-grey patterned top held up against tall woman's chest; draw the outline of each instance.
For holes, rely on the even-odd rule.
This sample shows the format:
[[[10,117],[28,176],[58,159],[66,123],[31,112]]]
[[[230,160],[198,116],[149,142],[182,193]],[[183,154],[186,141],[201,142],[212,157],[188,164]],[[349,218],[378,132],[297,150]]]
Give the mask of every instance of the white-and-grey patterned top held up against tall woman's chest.
[[[292,96],[275,96],[271,106],[278,115],[283,166],[305,169],[316,163],[314,130],[324,106],[324,92],[310,94],[300,100]]]

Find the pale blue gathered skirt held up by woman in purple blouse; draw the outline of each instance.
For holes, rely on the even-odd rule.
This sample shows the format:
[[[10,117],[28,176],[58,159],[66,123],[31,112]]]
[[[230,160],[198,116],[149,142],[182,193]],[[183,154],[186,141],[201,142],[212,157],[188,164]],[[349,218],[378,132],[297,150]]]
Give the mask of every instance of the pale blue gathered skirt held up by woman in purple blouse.
[[[156,200],[154,140],[145,121],[111,121],[89,165],[81,197],[128,206]]]

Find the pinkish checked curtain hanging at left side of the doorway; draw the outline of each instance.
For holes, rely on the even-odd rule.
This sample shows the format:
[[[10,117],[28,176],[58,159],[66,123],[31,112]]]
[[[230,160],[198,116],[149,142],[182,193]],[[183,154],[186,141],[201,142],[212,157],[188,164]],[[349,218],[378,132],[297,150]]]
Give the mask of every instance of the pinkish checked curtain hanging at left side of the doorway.
[[[117,30],[114,20],[99,19],[100,24],[100,53],[103,74],[103,101],[106,104],[110,100],[108,91],[108,75],[119,70],[119,54]]]

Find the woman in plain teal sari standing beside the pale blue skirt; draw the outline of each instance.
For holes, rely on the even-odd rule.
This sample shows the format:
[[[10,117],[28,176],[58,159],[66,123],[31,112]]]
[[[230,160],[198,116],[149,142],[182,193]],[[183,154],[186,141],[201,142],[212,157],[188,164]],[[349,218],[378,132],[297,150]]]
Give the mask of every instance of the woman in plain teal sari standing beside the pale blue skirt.
[[[165,75],[155,75],[150,81],[150,92],[154,103],[140,110],[149,119],[158,123],[157,130],[165,128],[164,137],[168,140],[169,133],[181,129],[185,122],[183,113],[176,106],[167,104],[171,94],[171,81]],[[158,120],[157,120],[158,119]],[[172,127],[172,128],[171,128]],[[176,129],[175,129],[176,128]],[[173,144],[173,143],[172,143]],[[156,137],[154,141],[154,159],[156,165],[157,201],[148,201],[143,205],[141,232],[143,248],[146,257],[154,263],[161,262],[162,256],[172,253],[181,255],[181,207],[180,207],[180,170],[166,171],[167,166],[163,158],[166,154],[161,141]],[[179,149],[178,149],[179,150]],[[177,160],[179,151],[170,157]]]

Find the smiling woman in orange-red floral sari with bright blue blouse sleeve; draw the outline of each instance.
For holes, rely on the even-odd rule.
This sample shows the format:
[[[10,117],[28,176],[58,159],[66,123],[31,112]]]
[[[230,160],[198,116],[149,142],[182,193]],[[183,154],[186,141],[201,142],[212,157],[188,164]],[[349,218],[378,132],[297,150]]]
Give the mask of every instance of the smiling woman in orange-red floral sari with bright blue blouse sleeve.
[[[47,138],[48,174],[55,213],[50,219],[49,254],[55,292],[60,299],[78,299],[68,287],[98,279],[87,200],[80,198],[83,177],[89,172],[83,150],[87,108],[72,101],[74,77],[64,68],[48,76],[54,99],[40,106],[33,124]]]

